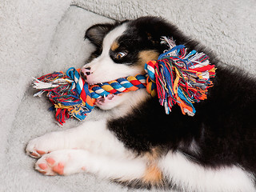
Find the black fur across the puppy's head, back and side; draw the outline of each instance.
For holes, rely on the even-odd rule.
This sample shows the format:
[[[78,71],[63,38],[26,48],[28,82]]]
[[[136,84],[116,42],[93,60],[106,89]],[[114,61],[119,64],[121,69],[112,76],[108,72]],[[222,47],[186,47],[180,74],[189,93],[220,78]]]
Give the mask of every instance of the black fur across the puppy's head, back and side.
[[[158,146],[163,153],[179,150],[202,166],[240,165],[255,175],[255,78],[232,66],[224,66],[209,50],[161,18],[146,17],[126,22],[129,30],[118,40],[120,49],[129,52],[123,62],[136,62],[142,50],[162,53],[167,47],[160,44],[160,38],[167,36],[174,38],[177,45],[184,44],[189,50],[208,54],[218,70],[208,99],[194,104],[197,110],[194,117],[183,115],[179,106],[174,106],[166,115],[158,98],[150,98],[126,117],[108,122],[110,130],[138,154]],[[100,49],[97,51],[100,53]],[[199,153],[190,150],[193,140]]]

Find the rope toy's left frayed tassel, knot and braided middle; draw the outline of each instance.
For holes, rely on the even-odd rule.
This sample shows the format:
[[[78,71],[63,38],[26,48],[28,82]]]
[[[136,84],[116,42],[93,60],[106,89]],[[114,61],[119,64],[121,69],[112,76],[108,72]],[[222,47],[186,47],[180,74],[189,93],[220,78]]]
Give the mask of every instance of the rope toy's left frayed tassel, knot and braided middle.
[[[56,109],[55,119],[62,125],[70,116],[78,120],[86,118],[94,109],[95,99],[146,88],[146,77],[138,74],[90,86],[81,78],[79,70],[71,67],[66,74],[61,71],[35,78],[33,87],[40,90],[34,96],[47,93]]]

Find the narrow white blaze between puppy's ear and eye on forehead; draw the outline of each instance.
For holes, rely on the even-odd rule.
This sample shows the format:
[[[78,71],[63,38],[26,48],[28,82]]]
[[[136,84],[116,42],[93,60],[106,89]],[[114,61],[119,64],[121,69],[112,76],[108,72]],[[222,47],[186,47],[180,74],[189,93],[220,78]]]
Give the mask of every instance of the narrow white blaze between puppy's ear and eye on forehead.
[[[109,54],[110,47],[114,43],[114,41],[120,37],[127,29],[126,23],[122,24],[121,26],[118,26],[114,28],[114,30],[111,30],[110,33],[106,34],[106,37],[103,40],[102,44],[102,54],[106,55]]]

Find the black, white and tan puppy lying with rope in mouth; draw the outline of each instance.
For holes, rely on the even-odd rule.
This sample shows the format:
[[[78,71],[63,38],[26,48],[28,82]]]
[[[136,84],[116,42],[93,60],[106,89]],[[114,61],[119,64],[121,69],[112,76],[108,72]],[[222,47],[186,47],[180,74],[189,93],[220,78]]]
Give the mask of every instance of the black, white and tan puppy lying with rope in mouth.
[[[144,74],[145,63],[168,50],[162,36],[204,52],[218,69],[208,98],[194,104],[197,113],[174,106],[167,115],[146,89],[98,99],[81,126],[29,142],[36,170],[178,191],[256,191],[256,81],[249,74],[219,63],[162,18],[144,17],[91,26],[86,38],[96,50],[81,75],[95,84]]]

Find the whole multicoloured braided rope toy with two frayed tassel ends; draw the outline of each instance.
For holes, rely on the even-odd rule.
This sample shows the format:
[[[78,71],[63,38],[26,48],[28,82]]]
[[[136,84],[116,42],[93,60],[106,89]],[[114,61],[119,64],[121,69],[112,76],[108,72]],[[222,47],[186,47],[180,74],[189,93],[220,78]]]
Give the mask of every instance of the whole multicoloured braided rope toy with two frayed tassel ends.
[[[86,118],[94,108],[95,99],[142,88],[153,97],[158,96],[166,114],[178,104],[182,114],[193,116],[196,112],[193,103],[206,99],[208,88],[213,86],[210,78],[215,77],[216,69],[210,65],[206,54],[196,50],[186,54],[186,47],[176,46],[170,38],[163,37],[162,43],[166,43],[170,50],[161,54],[157,61],[147,62],[146,74],[89,86],[80,77],[79,70],[71,67],[66,74],[61,71],[35,78],[33,87],[40,91],[34,96],[47,92],[56,109],[55,118],[61,125],[65,118]]]

